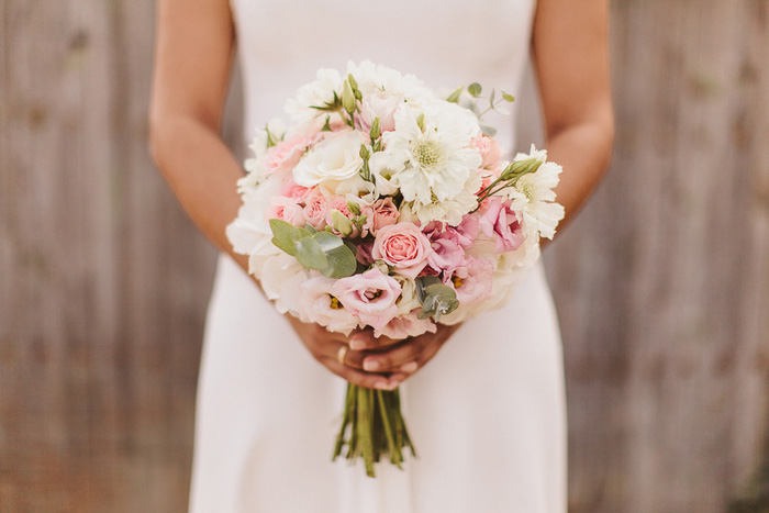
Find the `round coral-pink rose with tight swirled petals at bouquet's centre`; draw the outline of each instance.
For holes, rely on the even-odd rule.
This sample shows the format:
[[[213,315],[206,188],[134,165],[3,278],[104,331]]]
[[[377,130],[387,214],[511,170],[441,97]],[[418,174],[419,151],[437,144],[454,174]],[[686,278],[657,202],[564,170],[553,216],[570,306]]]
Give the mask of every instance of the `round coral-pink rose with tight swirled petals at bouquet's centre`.
[[[408,278],[416,278],[427,265],[432,252],[430,239],[416,225],[398,223],[379,230],[371,256],[395,267],[399,274]]]

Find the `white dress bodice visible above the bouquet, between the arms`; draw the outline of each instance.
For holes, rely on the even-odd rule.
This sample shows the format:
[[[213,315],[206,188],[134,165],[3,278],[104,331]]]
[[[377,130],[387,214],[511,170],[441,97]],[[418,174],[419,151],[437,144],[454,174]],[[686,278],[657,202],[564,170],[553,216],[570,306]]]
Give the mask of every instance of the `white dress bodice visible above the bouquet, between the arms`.
[[[536,0],[231,0],[244,75],[246,135],[282,114],[319,68],[369,59],[435,90],[473,81],[516,94]],[[490,119],[513,143],[513,121]]]

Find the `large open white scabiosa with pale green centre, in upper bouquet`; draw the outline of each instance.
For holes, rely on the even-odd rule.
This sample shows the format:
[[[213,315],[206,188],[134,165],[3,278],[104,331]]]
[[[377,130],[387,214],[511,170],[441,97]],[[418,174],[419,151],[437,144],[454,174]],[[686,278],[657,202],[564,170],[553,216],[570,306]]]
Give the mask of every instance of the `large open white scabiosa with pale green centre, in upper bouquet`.
[[[408,163],[397,175],[406,201],[430,204],[456,198],[481,156],[469,147],[479,132],[475,115],[454,103],[433,100],[425,104],[424,132],[417,113],[402,105],[395,112],[395,131],[382,138],[386,152]]]

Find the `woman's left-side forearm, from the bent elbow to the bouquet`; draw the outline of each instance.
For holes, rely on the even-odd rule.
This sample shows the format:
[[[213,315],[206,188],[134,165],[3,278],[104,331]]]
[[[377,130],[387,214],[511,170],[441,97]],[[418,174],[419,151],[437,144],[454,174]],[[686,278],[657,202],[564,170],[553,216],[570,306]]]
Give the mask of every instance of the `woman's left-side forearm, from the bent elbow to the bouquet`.
[[[225,235],[241,199],[236,180],[243,170],[220,136],[193,118],[153,120],[151,145],[155,163],[181,207],[200,231],[222,252],[247,269]]]

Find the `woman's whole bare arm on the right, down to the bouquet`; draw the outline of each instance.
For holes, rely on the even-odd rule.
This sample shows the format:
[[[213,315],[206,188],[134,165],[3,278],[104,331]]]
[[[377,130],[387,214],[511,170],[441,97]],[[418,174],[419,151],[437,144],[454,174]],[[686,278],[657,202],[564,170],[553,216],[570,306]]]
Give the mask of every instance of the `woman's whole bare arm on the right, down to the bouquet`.
[[[609,166],[614,116],[606,0],[539,0],[533,49],[548,158],[564,166],[556,189],[567,223]],[[560,225],[562,228],[564,224]]]

